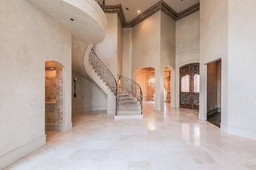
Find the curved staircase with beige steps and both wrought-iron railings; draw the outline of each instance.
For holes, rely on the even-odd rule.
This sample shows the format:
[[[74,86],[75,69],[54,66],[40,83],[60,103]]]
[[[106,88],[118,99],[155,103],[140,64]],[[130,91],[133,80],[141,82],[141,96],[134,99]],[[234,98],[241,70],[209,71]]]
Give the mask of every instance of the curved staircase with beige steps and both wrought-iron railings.
[[[87,68],[89,69],[86,71],[92,80],[108,95],[108,114],[114,114],[115,119],[143,118],[142,93],[136,82],[118,75],[119,79],[126,81],[126,86],[122,86],[123,81],[120,81],[121,84],[118,86],[112,73],[100,61],[93,49],[89,55]],[[127,86],[127,80],[132,81],[128,83],[131,86]],[[134,84],[135,88],[132,87]]]

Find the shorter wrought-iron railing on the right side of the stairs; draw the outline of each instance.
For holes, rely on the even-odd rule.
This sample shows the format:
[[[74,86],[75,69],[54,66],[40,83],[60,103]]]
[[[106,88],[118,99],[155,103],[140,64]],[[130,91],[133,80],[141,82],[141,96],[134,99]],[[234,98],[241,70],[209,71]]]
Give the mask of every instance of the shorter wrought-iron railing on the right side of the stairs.
[[[140,86],[136,82],[134,82],[133,80],[127,77],[121,76],[120,74],[117,74],[117,76],[118,76],[118,87],[126,90],[126,92],[129,92],[129,94],[132,94],[132,96],[137,98],[137,100],[140,102],[140,108],[141,108],[141,114],[142,114],[142,90]]]

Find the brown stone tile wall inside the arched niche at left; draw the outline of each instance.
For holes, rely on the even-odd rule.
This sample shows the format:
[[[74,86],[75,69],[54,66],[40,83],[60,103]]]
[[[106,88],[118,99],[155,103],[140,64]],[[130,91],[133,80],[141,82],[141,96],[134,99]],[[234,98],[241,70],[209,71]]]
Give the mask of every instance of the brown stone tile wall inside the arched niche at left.
[[[45,130],[60,131],[58,125],[62,125],[63,107],[62,66],[54,61],[47,61],[45,62],[45,68]],[[53,68],[52,71],[50,68]],[[55,68],[56,70],[54,70]],[[54,125],[57,126],[54,127]]]

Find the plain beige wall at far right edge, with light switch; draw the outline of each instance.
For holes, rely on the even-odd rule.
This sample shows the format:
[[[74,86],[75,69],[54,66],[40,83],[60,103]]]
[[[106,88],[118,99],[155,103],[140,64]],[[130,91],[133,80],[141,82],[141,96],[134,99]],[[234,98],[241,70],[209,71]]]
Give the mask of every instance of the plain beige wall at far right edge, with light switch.
[[[228,133],[252,139],[256,139],[255,8],[254,0],[248,0],[246,3],[239,0],[228,1],[227,129]],[[222,65],[222,68],[225,66],[225,64]],[[247,102],[242,101],[244,98],[247,99]]]

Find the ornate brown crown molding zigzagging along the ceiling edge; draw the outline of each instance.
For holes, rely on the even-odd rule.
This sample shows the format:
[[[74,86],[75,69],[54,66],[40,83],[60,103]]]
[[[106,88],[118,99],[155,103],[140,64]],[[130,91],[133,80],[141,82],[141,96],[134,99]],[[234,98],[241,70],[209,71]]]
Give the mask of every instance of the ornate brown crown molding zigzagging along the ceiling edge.
[[[194,12],[197,12],[200,10],[200,4],[194,4],[193,6],[187,8],[186,10],[183,10],[182,12],[175,12],[170,6],[168,6],[163,0],[160,0],[156,4],[154,4],[152,7],[148,8],[146,11],[142,12],[139,16],[134,18],[132,21],[126,22],[124,18],[124,12],[122,10],[121,4],[117,5],[106,5],[105,6],[105,13],[112,14],[117,13],[120,21],[122,23],[122,27],[134,27],[138,23],[146,20],[153,14],[155,14],[158,11],[164,12],[166,15],[168,15],[170,18],[172,18],[174,21],[178,21],[186,16],[189,16],[190,14],[193,14]]]

